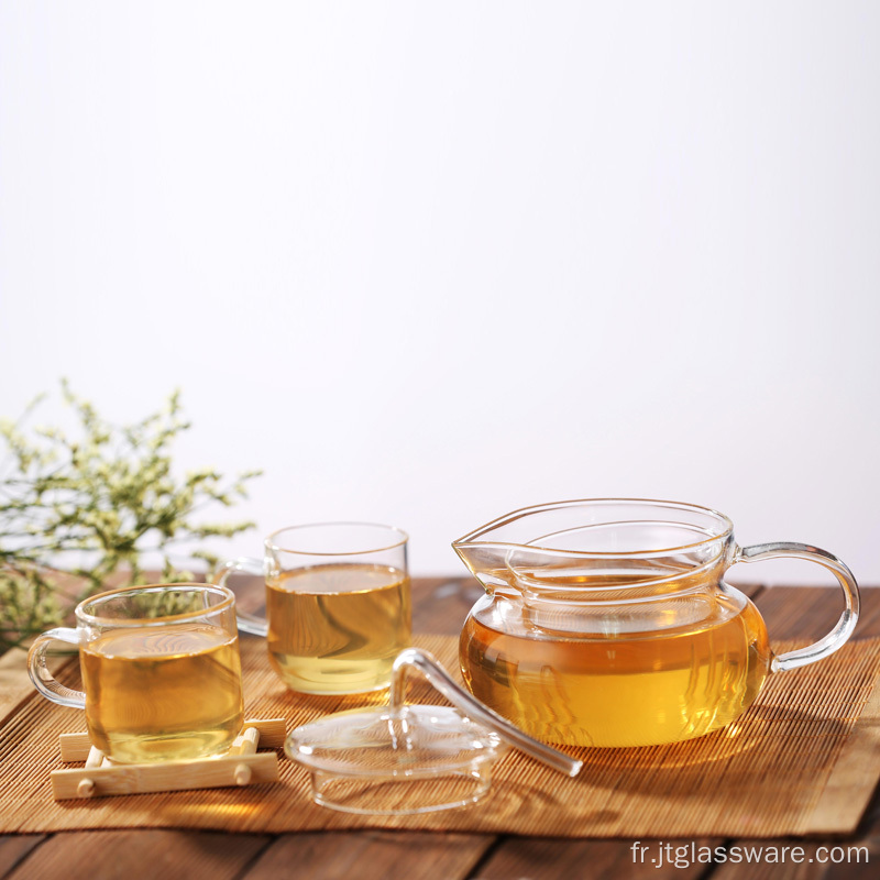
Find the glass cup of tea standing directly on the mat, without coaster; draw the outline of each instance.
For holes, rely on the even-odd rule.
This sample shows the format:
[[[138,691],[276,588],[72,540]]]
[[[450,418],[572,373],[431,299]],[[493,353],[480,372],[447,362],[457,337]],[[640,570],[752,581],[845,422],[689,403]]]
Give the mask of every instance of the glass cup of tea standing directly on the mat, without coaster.
[[[270,662],[294,691],[352,694],[388,686],[413,638],[408,536],[372,522],[319,522],[280,529],[263,560],[227,562],[264,574],[266,618],[239,612],[239,627],[265,636]]]

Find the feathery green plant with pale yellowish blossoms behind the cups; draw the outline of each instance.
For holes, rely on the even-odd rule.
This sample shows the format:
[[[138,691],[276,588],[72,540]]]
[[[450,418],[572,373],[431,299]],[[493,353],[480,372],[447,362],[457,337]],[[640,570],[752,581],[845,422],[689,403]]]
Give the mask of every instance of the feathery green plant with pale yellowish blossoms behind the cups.
[[[176,477],[169,448],[190,428],[179,393],[142,421],[113,426],[77,397],[66,381],[62,394],[81,429],[68,439],[59,428],[24,432],[25,417],[0,421],[10,453],[0,472],[0,650],[20,645],[61,618],[62,584],[96,592],[114,578],[144,583],[142,558],[157,553],[163,580],[191,580],[169,551],[209,538],[231,538],[253,522],[196,522],[206,505],[231,507],[246,497],[245,483],[213,469]],[[200,549],[188,557],[213,568],[218,558]]]

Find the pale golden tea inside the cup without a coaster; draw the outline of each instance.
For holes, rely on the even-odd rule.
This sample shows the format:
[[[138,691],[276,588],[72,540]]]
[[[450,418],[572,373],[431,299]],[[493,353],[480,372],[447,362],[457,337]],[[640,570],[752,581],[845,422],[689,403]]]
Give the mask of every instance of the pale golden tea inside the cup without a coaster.
[[[386,565],[316,565],[266,581],[272,666],[295,691],[387,688],[411,641],[409,578]]]

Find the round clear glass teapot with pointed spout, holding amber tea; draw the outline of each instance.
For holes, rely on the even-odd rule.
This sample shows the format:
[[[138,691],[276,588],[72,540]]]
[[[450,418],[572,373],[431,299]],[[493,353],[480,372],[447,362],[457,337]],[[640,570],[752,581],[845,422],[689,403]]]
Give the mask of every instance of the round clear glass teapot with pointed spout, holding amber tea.
[[[598,498],[526,507],[454,541],[486,588],[461,634],[471,692],[531,736],[648,746],[738,717],[772,672],[836,651],[858,619],[858,585],[802,543],[740,548],[724,515],[690,504]],[[794,557],[829,569],[846,609],[806,648],[774,656],[758,609],[724,574]]]

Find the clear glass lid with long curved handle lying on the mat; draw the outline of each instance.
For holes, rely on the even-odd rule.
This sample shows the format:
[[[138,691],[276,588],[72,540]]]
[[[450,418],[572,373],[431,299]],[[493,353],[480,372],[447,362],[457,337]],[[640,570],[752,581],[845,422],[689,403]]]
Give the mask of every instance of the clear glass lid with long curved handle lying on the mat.
[[[407,705],[407,678],[422,675],[453,706]],[[414,815],[466,806],[490,790],[510,747],[568,776],[581,761],[518,730],[462,690],[427,651],[394,663],[387,706],[339,712],[294,730],[287,756],[311,774],[316,803],[343,813]]]

